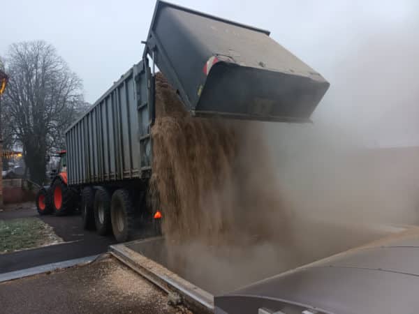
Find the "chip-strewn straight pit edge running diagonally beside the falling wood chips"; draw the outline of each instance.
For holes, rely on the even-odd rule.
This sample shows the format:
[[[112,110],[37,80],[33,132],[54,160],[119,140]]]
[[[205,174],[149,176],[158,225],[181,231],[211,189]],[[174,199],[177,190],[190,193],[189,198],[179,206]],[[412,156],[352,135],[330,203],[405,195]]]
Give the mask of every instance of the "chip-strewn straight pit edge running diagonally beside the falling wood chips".
[[[166,267],[140,253],[132,251],[124,244],[112,245],[109,247],[109,251],[119,261],[161,290],[168,294],[179,294],[185,305],[192,311],[197,311],[197,313],[214,313],[214,296],[209,292],[196,287],[189,281],[185,281],[177,274],[166,269]],[[133,255],[141,258],[135,258]]]

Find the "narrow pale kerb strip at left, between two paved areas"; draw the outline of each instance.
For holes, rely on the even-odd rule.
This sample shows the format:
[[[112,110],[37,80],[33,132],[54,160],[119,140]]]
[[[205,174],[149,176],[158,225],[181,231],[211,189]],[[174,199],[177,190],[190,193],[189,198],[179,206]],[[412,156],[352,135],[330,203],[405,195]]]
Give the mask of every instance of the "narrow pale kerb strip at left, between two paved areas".
[[[64,269],[68,267],[73,267],[80,264],[88,264],[93,262],[100,255],[91,255],[87,257],[75,258],[74,260],[64,260],[62,262],[56,262],[51,264],[44,264],[36,267],[31,267],[27,269],[21,269],[18,271],[10,271],[8,273],[0,274],[0,283],[5,281],[13,281],[15,279],[20,279],[24,277],[34,276],[38,274],[46,273],[47,271],[54,271],[57,269]]]

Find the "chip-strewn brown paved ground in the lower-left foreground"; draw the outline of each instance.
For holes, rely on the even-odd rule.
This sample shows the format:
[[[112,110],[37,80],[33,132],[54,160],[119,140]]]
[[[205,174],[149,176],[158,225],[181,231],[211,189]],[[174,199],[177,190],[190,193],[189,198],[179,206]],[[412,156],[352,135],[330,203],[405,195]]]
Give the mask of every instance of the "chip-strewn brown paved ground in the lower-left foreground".
[[[112,257],[0,283],[1,313],[190,313]]]

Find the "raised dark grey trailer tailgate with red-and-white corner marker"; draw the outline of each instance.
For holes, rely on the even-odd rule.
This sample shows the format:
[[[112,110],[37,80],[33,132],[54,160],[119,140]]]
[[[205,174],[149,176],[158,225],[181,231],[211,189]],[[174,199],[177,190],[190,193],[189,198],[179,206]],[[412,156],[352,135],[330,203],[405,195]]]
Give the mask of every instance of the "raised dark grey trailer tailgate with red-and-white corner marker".
[[[191,114],[309,121],[329,83],[269,34],[158,1],[146,53]]]

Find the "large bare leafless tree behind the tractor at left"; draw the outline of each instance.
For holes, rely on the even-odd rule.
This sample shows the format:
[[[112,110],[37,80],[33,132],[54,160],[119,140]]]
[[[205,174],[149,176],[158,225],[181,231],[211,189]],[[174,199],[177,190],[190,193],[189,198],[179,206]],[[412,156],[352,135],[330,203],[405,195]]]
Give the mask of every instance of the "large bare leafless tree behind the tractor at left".
[[[55,48],[41,40],[10,45],[6,71],[5,126],[23,147],[31,180],[41,184],[47,151],[63,147],[64,129],[84,103],[82,81]]]

